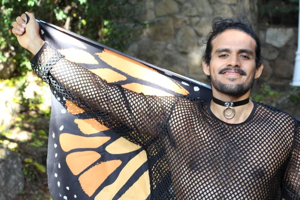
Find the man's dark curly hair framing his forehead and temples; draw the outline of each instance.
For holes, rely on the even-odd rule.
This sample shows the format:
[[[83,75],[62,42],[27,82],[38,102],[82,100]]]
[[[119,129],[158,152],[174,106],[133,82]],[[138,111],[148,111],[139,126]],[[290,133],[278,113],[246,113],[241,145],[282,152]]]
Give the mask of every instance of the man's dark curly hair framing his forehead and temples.
[[[256,67],[261,65],[262,58],[260,52],[260,40],[258,36],[255,34],[255,32],[253,31],[253,29],[249,25],[247,25],[248,22],[246,18],[244,16],[237,16],[237,17],[238,17],[237,19],[215,17],[212,20],[212,30],[206,36],[205,41],[203,41],[204,43],[206,43],[206,49],[203,55],[203,59],[206,63],[209,63],[211,59],[212,39],[214,39],[218,34],[222,33],[225,30],[236,29],[249,34],[255,40]]]

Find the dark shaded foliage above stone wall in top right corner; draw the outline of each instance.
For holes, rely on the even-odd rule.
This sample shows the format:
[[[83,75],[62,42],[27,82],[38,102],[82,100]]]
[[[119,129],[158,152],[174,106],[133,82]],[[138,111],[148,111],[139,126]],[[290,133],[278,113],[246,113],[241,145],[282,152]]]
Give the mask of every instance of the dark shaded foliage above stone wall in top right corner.
[[[259,18],[267,18],[267,24],[297,26],[298,0],[259,0]]]

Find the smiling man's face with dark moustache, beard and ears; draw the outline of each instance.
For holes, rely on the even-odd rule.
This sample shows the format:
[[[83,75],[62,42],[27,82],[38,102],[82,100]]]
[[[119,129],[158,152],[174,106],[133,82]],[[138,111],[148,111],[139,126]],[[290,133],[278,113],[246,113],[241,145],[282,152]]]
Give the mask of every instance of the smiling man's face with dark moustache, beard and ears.
[[[256,68],[255,40],[245,32],[225,30],[212,41],[211,60],[203,62],[212,88],[228,95],[241,96],[250,91],[263,65]]]

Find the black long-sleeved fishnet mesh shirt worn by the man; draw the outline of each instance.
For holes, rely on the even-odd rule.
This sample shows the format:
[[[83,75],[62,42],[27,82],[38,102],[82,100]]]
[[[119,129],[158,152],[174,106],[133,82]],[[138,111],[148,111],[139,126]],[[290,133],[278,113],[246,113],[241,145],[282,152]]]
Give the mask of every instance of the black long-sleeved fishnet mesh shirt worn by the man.
[[[300,199],[299,123],[253,102],[242,123],[219,120],[189,97],[158,97],[107,83],[45,43],[31,59],[52,90],[141,145],[151,199]]]

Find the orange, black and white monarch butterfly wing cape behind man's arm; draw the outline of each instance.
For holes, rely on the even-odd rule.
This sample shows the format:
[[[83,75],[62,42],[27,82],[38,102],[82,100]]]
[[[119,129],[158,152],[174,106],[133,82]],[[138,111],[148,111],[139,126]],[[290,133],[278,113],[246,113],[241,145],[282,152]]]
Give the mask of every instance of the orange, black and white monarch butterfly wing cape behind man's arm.
[[[37,21],[44,40],[107,82],[147,95],[211,99],[206,84]],[[53,199],[150,199],[145,151],[56,93],[52,93],[47,174]]]

